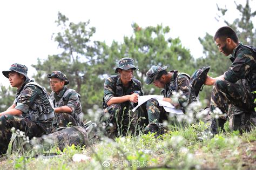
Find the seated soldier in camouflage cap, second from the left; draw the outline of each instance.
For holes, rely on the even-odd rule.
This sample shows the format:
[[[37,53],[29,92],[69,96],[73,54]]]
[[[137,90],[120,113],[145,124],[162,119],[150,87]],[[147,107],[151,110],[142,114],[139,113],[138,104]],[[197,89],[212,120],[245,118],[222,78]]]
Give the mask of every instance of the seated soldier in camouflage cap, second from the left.
[[[56,128],[66,127],[69,123],[73,126],[83,125],[80,94],[65,86],[69,84],[66,75],[60,71],[53,71],[47,77],[50,79],[52,89],[50,97],[57,115]]]

